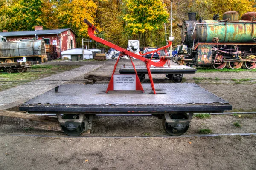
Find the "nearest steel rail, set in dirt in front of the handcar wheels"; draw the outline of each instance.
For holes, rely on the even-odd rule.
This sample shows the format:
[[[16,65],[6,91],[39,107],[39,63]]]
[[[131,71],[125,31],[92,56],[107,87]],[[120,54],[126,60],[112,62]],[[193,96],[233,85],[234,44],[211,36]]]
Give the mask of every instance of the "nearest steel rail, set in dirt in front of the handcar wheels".
[[[187,137],[215,137],[215,136],[256,136],[256,133],[221,133],[221,134],[206,134],[206,135],[181,135],[181,136],[169,136],[169,135],[152,135],[152,136],[62,136],[62,135],[22,135],[22,134],[0,134],[0,136],[25,136],[25,137],[53,137],[53,138],[187,138]]]

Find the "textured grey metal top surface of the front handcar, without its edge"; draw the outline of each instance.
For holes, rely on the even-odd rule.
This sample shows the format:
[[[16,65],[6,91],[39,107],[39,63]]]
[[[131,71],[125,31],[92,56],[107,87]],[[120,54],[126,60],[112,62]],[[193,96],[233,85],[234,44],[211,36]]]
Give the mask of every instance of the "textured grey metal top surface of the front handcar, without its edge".
[[[105,90],[108,84],[61,85],[58,92],[52,89],[30,99],[29,104],[52,105],[175,105],[175,104],[211,104],[228,103],[224,99],[206,91],[196,84],[154,84],[157,94],[151,94],[150,84],[143,84],[141,91]]]

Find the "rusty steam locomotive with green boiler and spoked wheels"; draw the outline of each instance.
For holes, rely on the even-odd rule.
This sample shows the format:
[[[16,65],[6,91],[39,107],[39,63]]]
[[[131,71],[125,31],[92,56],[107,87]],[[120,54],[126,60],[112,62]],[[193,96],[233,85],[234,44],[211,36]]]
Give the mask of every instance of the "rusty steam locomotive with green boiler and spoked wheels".
[[[178,62],[186,65],[211,66],[215,69],[256,69],[256,12],[239,15],[236,11],[223,14],[223,19],[189,20],[178,24],[182,45],[178,45]]]

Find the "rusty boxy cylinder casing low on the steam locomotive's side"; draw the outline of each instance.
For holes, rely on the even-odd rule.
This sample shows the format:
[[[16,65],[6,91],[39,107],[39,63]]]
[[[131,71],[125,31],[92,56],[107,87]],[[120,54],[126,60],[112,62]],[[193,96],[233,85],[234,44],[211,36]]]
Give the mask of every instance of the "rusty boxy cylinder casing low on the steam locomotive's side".
[[[210,66],[212,65],[212,45],[198,46],[198,61],[197,65]]]

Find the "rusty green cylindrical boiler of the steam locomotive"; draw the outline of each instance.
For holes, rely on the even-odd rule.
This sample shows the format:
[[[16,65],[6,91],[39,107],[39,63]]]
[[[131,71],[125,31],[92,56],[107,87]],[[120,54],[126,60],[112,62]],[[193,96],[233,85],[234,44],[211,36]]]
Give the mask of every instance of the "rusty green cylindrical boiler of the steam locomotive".
[[[181,38],[186,45],[192,45],[194,39],[195,42],[212,42],[215,37],[218,37],[219,42],[254,42],[256,22],[250,23],[242,20],[236,23],[224,23],[216,20],[203,20],[202,23],[199,23],[199,21],[183,21]]]

